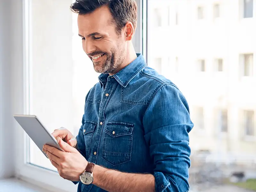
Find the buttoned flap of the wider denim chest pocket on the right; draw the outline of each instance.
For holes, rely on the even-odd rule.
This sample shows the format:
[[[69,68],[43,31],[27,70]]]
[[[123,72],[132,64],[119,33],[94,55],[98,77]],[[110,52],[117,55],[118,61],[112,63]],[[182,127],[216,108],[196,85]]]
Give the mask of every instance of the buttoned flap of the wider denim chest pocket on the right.
[[[104,130],[104,132],[112,137],[131,135],[132,131],[133,124],[123,122],[108,122]]]

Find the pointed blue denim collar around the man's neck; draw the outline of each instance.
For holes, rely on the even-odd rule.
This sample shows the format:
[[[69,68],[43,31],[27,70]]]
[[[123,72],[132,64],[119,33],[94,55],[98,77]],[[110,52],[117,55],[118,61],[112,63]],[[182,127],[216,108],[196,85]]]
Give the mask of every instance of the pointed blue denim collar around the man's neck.
[[[125,68],[113,75],[116,81],[123,87],[126,87],[129,82],[146,66],[146,61],[141,53],[136,53],[137,58],[133,60]],[[99,76],[100,86],[107,82],[109,74],[101,74]]]

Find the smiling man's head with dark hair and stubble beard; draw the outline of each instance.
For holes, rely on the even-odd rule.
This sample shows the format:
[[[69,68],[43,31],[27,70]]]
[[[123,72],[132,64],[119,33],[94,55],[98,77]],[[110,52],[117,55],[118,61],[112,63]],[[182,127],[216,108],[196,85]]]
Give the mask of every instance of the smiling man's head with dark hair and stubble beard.
[[[115,73],[124,62],[137,23],[135,0],[76,0],[78,33],[98,73]]]

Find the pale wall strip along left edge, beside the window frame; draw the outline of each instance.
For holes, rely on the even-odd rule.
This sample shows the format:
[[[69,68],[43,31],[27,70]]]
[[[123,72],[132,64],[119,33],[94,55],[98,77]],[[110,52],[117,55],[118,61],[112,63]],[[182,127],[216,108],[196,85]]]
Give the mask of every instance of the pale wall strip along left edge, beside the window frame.
[[[12,35],[11,3],[0,1],[0,179],[14,175],[14,145],[12,140]]]

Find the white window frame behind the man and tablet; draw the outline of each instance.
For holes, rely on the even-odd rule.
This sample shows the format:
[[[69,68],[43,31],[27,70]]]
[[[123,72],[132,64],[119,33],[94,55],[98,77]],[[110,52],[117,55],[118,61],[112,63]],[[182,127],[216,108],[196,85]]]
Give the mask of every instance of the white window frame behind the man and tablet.
[[[12,86],[15,86],[14,92],[14,103],[19,103],[19,105],[15,106],[14,112],[16,114],[28,114],[29,113],[29,80],[30,80],[30,62],[31,62],[31,42],[29,36],[31,35],[31,1],[32,0],[22,0],[22,6],[16,7],[16,11],[22,14],[22,26],[20,26],[20,20],[17,20],[16,24],[13,26],[20,26],[18,29],[20,31],[16,31],[18,34],[23,35],[23,39],[19,39],[17,44],[22,44],[18,52],[19,54],[23,53],[23,60],[20,62],[14,63],[13,70],[18,70],[22,74],[15,75],[14,81],[12,82]],[[133,37],[133,45],[136,52],[140,52],[144,55],[145,59],[147,60],[147,38],[142,38],[142,36],[147,36],[147,30],[142,31],[142,26],[147,29],[147,20],[144,19],[142,23],[142,17],[147,17],[146,8],[147,2],[143,0],[136,0],[138,4],[138,22],[137,22],[137,29],[135,31]],[[144,12],[142,12],[142,8],[144,8]],[[13,71],[14,73],[14,71]],[[15,130],[15,177],[20,180],[25,180],[29,183],[35,184],[44,188],[45,190],[49,191],[63,191],[63,192],[70,192],[76,191],[77,186],[71,181],[64,180],[58,174],[58,172],[48,170],[33,164],[29,164],[29,137],[28,135],[22,130],[19,124],[13,120],[14,130]],[[61,184],[57,184],[61,183]]]

